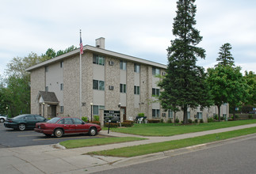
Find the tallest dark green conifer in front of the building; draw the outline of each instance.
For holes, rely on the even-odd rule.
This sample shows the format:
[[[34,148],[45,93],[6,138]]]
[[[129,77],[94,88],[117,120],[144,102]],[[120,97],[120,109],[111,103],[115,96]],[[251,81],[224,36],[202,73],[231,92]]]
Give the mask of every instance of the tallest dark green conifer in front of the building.
[[[202,108],[212,104],[206,85],[204,69],[197,66],[197,58],[205,58],[205,51],[197,44],[201,42],[200,32],[194,28],[197,24],[195,0],[179,0],[177,16],[174,18],[173,34],[168,47],[168,66],[166,77],[159,82],[164,89],[159,100],[162,108],[181,108],[184,112],[183,123],[188,123],[187,108]]]

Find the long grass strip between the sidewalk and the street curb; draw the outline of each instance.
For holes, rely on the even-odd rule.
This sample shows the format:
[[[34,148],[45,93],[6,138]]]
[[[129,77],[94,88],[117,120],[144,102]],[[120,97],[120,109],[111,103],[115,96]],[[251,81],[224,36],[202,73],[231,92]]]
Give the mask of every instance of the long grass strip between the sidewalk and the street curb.
[[[109,149],[102,150],[97,152],[91,152],[87,154],[94,155],[104,155],[104,156],[113,156],[113,157],[136,157],[139,155],[158,153],[170,149],[179,149],[187,146],[195,146],[199,144],[204,144],[207,142],[216,142],[228,138],[235,138],[246,134],[256,133],[256,127],[246,128],[243,130],[237,131],[228,131],[219,134],[208,134],[196,138],[185,138],[181,140],[174,140],[169,142],[157,142],[147,145],[140,146],[129,146],[119,149]]]

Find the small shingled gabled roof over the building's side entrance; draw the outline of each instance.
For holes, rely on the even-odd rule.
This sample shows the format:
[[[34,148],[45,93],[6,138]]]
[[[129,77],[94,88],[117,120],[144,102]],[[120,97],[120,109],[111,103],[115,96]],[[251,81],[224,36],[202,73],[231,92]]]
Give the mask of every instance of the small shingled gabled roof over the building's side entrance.
[[[38,95],[36,96],[36,101],[39,104],[59,104],[59,100],[57,99],[57,96],[53,92],[46,92],[46,91],[40,91]]]

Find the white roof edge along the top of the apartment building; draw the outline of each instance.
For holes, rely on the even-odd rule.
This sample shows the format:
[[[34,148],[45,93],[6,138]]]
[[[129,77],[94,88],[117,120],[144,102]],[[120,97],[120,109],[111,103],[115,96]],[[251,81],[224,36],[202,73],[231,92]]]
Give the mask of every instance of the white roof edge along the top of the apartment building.
[[[152,62],[152,61],[149,61],[149,60],[146,60],[146,59],[140,59],[140,58],[136,58],[136,57],[133,57],[133,56],[130,56],[130,55],[124,55],[124,54],[121,54],[121,53],[117,53],[115,51],[109,51],[109,50],[105,50],[105,49],[102,49],[102,48],[99,48],[99,47],[93,47],[93,46],[90,46],[90,45],[84,46],[83,51],[94,52],[94,53],[101,54],[101,55],[116,57],[118,59],[124,59],[124,60],[127,60],[127,61],[143,63],[143,64],[147,64],[147,65],[150,65],[150,66],[156,66],[156,67],[160,67],[160,68],[163,68],[163,69],[167,69],[166,65],[158,63],[158,62]],[[74,51],[70,51],[70,52],[68,52],[64,55],[59,55],[58,57],[55,57],[53,59],[49,59],[47,61],[40,62],[40,63],[38,63],[34,66],[30,66],[29,68],[26,69],[26,71],[30,72],[30,71],[35,70],[37,68],[40,68],[42,66],[47,66],[47,65],[52,64],[54,62],[59,62],[63,59],[70,58],[71,56],[78,55],[79,52],[80,52],[80,49],[78,48],[78,49],[76,49]]]

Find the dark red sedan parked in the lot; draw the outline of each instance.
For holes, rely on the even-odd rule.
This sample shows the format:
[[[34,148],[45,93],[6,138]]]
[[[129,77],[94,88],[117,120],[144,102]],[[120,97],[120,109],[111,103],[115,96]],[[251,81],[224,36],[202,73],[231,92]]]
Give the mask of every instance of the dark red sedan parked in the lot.
[[[101,127],[97,124],[85,123],[78,118],[54,117],[46,123],[36,123],[34,131],[43,133],[48,137],[53,134],[57,138],[62,137],[63,134],[89,133],[90,136],[94,136],[101,131]]]

